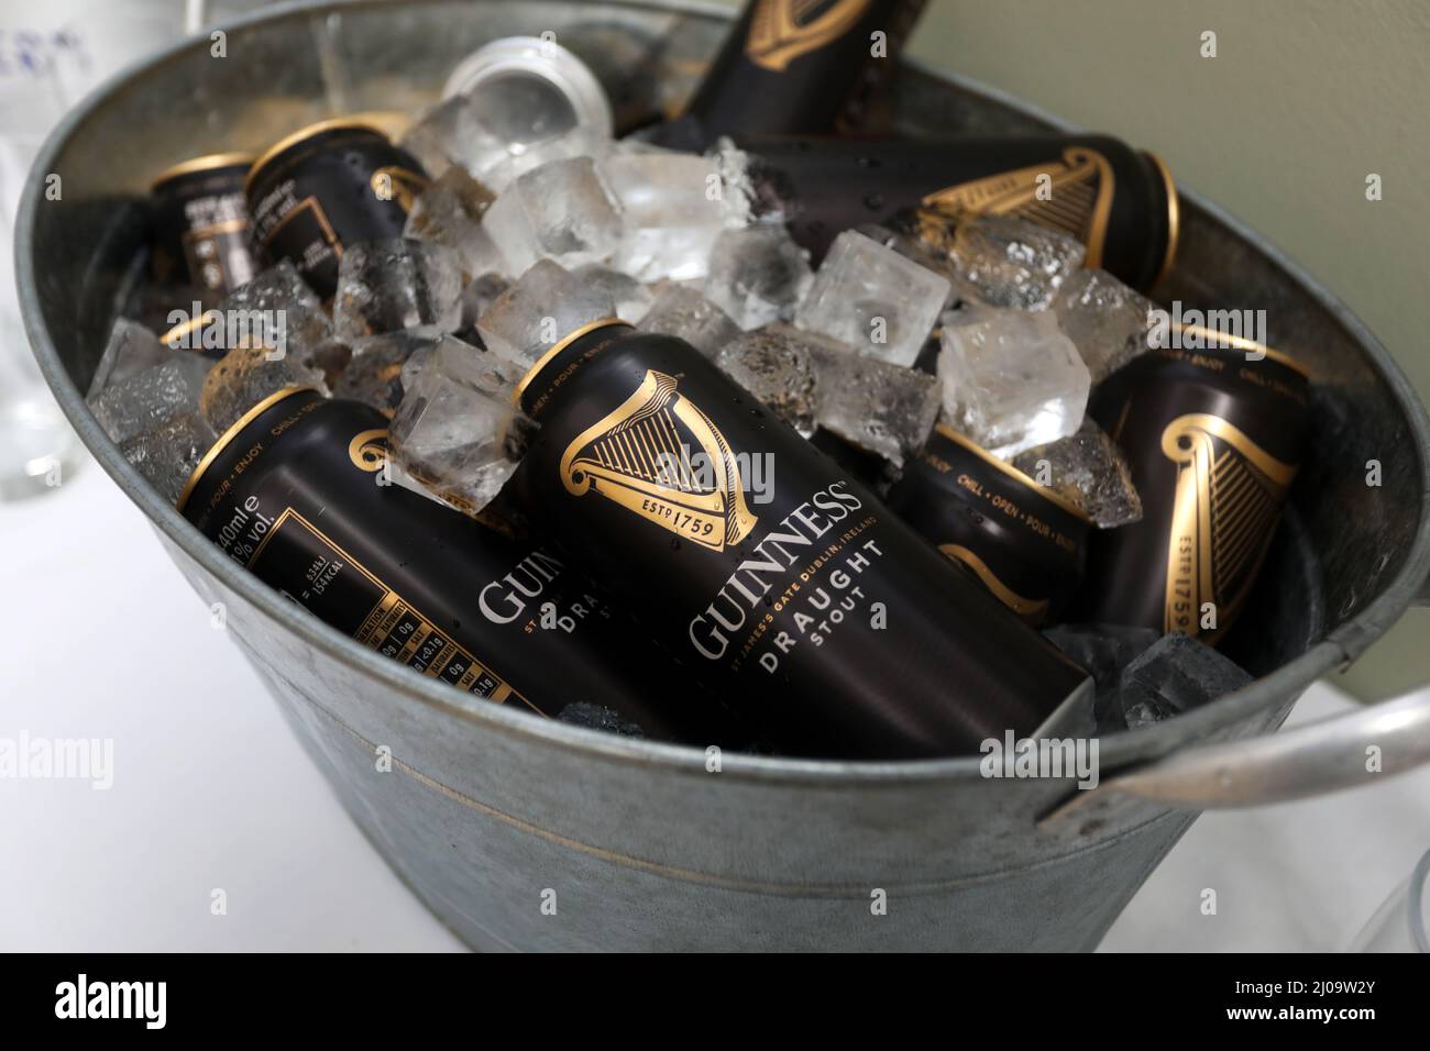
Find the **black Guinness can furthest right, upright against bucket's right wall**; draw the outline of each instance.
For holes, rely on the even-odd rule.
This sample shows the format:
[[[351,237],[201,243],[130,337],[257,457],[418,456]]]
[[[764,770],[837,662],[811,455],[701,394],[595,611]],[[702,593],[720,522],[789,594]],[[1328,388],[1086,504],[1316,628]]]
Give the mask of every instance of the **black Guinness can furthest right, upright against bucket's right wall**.
[[[1077,619],[1216,645],[1246,605],[1296,478],[1310,380],[1248,339],[1191,327],[1177,343],[1093,393],[1088,410],[1125,453],[1143,518],[1091,539]]]

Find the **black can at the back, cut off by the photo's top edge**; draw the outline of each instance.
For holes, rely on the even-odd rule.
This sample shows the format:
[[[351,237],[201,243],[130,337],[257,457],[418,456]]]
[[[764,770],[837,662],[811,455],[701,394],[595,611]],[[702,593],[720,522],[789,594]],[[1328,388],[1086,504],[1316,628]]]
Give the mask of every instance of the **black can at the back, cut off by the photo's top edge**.
[[[681,117],[655,137],[831,133],[864,120],[924,0],[752,0]]]

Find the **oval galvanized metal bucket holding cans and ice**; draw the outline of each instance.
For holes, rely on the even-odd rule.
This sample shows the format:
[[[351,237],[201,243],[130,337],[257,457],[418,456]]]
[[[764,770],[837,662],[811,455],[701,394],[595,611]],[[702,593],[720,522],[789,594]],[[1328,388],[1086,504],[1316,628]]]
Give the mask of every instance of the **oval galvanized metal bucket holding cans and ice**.
[[[1324,791],[1430,754],[1430,705],[1391,702],[1277,728],[1358,656],[1430,572],[1430,425],[1341,305],[1216,207],[1185,194],[1188,306],[1264,307],[1271,343],[1317,376],[1314,452],[1227,648],[1260,678],[1190,715],[1103,741],[1103,784],[980,776],[978,759],[848,764],[706,754],[469,701],[359,646],[246,575],[123,460],[80,392],[143,236],[147,179],[300,123],[436,99],[456,61],[508,34],[558,39],[622,112],[678,103],[721,39],[692,4],[423,1],[285,7],[199,40],[82,106],[40,156],[20,214],[36,353],[90,450],[154,526],[392,867],[480,948],[1084,949],[1203,806]],[[905,133],[1057,126],[912,66]],[[57,200],[46,176],[60,176]],[[1366,463],[1384,483],[1367,488]],[[375,749],[392,749],[380,772]],[[548,891],[553,891],[548,894]],[[878,891],[887,915],[874,915]],[[555,902],[556,915],[543,904]]]

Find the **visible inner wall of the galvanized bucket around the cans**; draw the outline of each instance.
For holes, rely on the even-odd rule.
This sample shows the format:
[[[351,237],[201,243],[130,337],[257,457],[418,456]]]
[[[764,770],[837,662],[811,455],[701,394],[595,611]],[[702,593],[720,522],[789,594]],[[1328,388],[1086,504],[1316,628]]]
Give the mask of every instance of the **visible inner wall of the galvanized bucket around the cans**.
[[[678,109],[726,23],[699,11],[529,0],[316,9],[240,23],[225,34],[223,57],[216,44],[194,43],[83,109],[51,170],[36,173],[59,176],[60,193],[37,199],[33,237],[23,242],[33,257],[21,260],[34,279],[31,310],[73,385],[57,385],[66,408],[86,412],[79,392],[143,272],[143,202],[156,172],[207,152],[257,152],[337,114],[416,113],[480,44],[552,29],[606,87],[621,133]],[[1052,127],[915,67],[897,80],[888,120],[911,136]],[[1260,582],[1223,643],[1266,675],[1357,619],[1406,569],[1424,532],[1423,418],[1353,317],[1194,197],[1183,200],[1177,265],[1154,296],[1184,307],[1263,309],[1271,346],[1313,372],[1313,448]],[[1380,465],[1379,486],[1367,485],[1370,462]],[[193,543],[204,541],[194,533]],[[1366,643],[1399,612],[1363,618]]]

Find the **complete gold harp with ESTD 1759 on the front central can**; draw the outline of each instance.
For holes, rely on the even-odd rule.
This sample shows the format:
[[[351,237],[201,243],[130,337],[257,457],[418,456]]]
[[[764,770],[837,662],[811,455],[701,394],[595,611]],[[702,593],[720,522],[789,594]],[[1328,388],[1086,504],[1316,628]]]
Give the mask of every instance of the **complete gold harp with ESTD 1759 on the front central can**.
[[[705,453],[692,463],[691,449]],[[615,412],[586,428],[561,458],[573,496],[595,490],[626,510],[712,551],[755,528],[725,436],[678,390],[674,376],[646,370]]]

